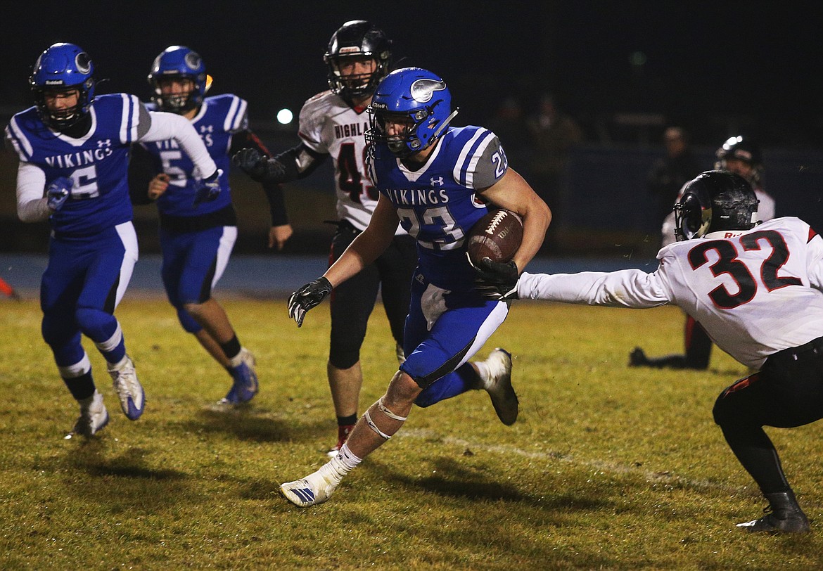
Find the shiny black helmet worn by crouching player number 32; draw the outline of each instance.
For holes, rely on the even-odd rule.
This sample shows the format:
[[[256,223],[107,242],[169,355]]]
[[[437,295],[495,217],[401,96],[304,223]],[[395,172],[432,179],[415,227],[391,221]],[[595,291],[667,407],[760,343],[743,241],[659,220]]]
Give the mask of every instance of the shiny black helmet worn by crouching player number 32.
[[[751,184],[728,170],[709,170],[686,183],[674,207],[678,242],[718,230],[749,230],[757,224]]]

